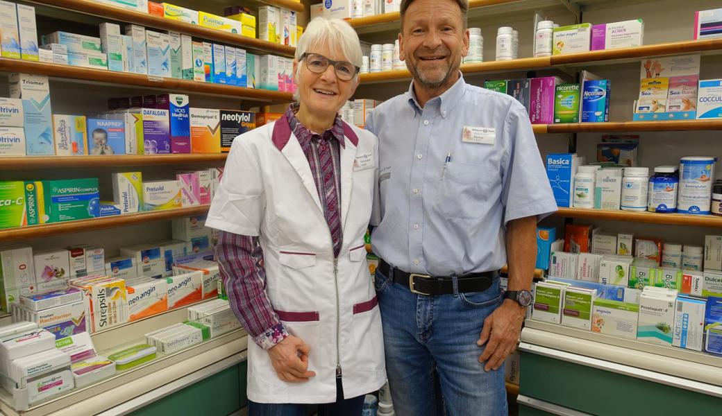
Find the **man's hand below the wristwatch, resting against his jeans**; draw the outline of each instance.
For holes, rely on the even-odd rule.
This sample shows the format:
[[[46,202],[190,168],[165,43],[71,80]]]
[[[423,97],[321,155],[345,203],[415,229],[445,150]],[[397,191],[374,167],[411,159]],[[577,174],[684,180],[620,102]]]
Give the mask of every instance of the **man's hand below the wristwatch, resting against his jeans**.
[[[477,341],[477,345],[484,347],[484,353],[479,355],[479,362],[484,363],[484,371],[496,370],[506,359],[506,356],[516,350],[519,340],[521,323],[524,320],[524,308],[511,299],[504,303],[484,319],[484,329]]]

